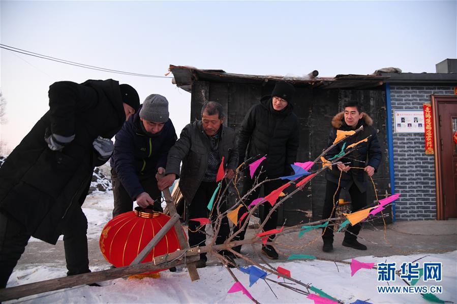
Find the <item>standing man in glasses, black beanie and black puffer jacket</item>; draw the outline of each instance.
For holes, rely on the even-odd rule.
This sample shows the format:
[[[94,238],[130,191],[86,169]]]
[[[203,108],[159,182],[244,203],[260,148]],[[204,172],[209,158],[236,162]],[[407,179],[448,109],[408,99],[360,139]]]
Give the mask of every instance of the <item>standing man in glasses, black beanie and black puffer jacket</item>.
[[[279,81],[271,96],[263,97],[260,103],[253,106],[246,114],[241,123],[238,134],[238,152],[240,153],[241,163],[243,160],[250,159],[253,162],[256,159],[265,156],[266,159],[257,169],[254,177],[251,179],[246,175],[243,179],[242,196],[245,195],[253,186],[254,180],[258,182],[267,179],[274,179],[291,174],[290,166],[296,160],[298,150],[298,119],[292,112],[291,104],[295,88],[285,82]],[[261,171],[262,168],[262,171]],[[264,194],[282,186],[282,180],[266,182],[262,185]],[[245,205],[249,206],[252,200],[259,196],[260,187],[251,193],[246,199]],[[271,210],[268,203],[262,205],[260,220],[263,222]],[[244,211],[239,211],[242,215]],[[278,212],[275,210],[263,227],[264,231],[275,229],[278,224]],[[241,231],[235,240],[243,240],[245,231]],[[269,236],[272,241],[275,235]],[[240,247],[235,248],[240,251]],[[278,253],[271,245],[262,246],[262,253],[270,259],[278,259]]]

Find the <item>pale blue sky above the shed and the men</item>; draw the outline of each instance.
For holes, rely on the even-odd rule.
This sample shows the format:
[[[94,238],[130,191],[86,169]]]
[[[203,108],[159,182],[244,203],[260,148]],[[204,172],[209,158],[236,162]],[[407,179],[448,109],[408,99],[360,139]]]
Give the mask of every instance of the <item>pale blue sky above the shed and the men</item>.
[[[0,41],[27,51],[164,76],[169,64],[254,75],[371,74],[382,67],[435,73],[457,58],[456,1],[0,1]],[[141,102],[169,101],[180,133],[191,94],[171,79],[82,69],[1,49],[8,104],[0,140],[14,148],[48,110],[49,85],[118,80]],[[170,74],[170,76],[172,76]]]

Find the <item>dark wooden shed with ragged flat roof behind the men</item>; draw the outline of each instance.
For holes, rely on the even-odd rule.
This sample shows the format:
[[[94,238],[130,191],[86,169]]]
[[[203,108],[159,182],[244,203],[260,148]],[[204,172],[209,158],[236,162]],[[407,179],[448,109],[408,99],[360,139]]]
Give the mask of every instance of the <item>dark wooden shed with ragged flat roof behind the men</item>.
[[[190,66],[170,65],[173,83],[192,94],[190,121],[200,119],[203,103],[216,101],[227,113],[226,124],[238,130],[248,110],[264,95],[271,94],[282,76],[259,76],[225,73],[222,70],[199,70]],[[315,71],[317,72],[317,71]],[[316,74],[316,73],[315,73]],[[292,104],[299,119],[300,141],[297,161],[314,160],[326,148],[331,119],[341,112],[348,99],[356,99],[374,120],[383,151],[382,163],[374,176],[379,199],[390,195],[389,159],[386,140],[385,76],[338,75],[332,78],[291,77],[284,80],[295,86]],[[313,170],[316,168],[313,167]],[[299,194],[288,199],[279,209],[279,225],[295,225],[320,219],[325,193],[324,175],[314,178]],[[350,199],[342,191],[342,198]],[[368,202],[376,199],[369,187]],[[391,212],[388,221],[391,221]]]

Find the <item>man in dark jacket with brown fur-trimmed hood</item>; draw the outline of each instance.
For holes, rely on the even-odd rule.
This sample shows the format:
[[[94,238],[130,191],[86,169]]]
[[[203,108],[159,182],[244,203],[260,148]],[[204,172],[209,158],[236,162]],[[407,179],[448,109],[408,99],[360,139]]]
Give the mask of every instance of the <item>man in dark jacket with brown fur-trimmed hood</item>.
[[[355,150],[348,154],[347,158],[342,158],[337,166],[333,167],[333,170],[327,170],[325,173],[327,186],[322,219],[334,217],[333,200],[335,202],[338,201],[341,188],[347,189],[351,195],[352,212],[367,206],[367,178],[365,177],[365,173],[369,177],[372,177],[381,162],[381,147],[379,146],[377,131],[372,124],[373,119],[367,113],[362,112],[361,106],[357,102],[347,102],[344,105],[344,111],[333,117],[331,121],[332,129],[328,136],[328,147],[336,139],[337,130],[350,131],[360,126],[363,126],[363,130],[333,147],[327,153],[327,158],[337,155],[341,151],[344,142],[348,146],[365,138],[368,138],[368,141],[359,143],[355,147]],[[360,167],[364,168],[363,171]],[[333,250],[332,228],[324,228],[324,233],[322,234],[322,240],[324,241],[322,250],[324,252]],[[360,228],[360,223],[349,226],[345,232],[342,245],[357,250],[367,250],[367,246],[357,241]]]

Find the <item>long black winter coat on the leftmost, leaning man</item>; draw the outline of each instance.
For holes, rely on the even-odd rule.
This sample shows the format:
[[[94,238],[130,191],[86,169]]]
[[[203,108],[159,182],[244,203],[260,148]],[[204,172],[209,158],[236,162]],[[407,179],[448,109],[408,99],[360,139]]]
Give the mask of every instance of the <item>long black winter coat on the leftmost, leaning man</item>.
[[[112,138],[125,120],[117,81],[52,84],[49,111],[0,167],[0,211],[35,238],[55,244],[87,195],[97,159],[93,141]],[[62,152],[52,151],[44,141],[47,128],[75,139]]]

